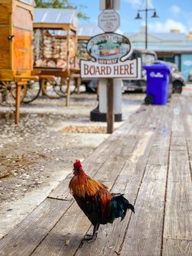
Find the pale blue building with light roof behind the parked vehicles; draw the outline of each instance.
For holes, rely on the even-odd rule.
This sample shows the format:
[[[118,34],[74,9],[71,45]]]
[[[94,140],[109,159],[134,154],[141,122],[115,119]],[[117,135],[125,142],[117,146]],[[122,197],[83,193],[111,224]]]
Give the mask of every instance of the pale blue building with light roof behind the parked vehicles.
[[[146,33],[141,29],[138,33],[124,33],[134,48],[145,48]],[[159,60],[177,64],[187,82],[192,73],[192,33],[180,33],[177,29],[170,33],[148,33],[148,49],[155,51]]]

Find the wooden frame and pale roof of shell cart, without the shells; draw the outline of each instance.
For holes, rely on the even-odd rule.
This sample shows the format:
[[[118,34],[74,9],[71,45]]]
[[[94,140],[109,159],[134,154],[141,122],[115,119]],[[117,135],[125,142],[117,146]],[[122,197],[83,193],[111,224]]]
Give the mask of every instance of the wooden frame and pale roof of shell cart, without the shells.
[[[76,48],[77,48],[77,17],[76,11],[64,9],[35,9],[35,20],[33,22],[33,30],[40,29],[49,37],[56,40],[66,40],[66,66],[64,68],[50,67],[47,65],[37,66],[34,61],[34,74],[38,76],[55,76],[67,78],[67,99],[66,105],[70,99],[70,82],[73,77],[80,77],[80,69],[76,65]],[[70,40],[74,40],[74,49],[70,51]],[[54,44],[52,46],[54,48]],[[50,49],[48,59],[55,61],[54,55]],[[72,64],[73,59],[73,64]]]

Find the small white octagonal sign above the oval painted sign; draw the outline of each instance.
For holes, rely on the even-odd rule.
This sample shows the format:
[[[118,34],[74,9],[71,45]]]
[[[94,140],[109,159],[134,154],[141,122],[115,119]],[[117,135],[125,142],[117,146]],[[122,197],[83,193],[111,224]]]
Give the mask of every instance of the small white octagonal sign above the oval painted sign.
[[[120,26],[120,15],[114,10],[105,10],[98,15],[98,26],[104,32],[114,32]]]

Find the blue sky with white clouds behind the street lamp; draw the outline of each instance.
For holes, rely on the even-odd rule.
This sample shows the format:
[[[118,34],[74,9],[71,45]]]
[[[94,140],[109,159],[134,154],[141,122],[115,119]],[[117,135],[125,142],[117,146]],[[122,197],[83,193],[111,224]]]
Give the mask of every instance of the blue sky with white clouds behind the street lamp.
[[[98,24],[100,0],[72,0],[76,5],[82,5],[81,11],[89,16],[89,23]],[[104,0],[103,0],[104,1]],[[137,10],[145,8],[146,0],[120,0],[119,33],[137,33],[145,25],[145,12],[140,15],[143,20],[134,20]],[[170,29],[180,29],[182,33],[192,31],[192,0],[148,0],[149,8],[155,8],[159,18],[151,18],[149,12],[149,32],[164,33]],[[85,23],[85,21],[80,21]]]

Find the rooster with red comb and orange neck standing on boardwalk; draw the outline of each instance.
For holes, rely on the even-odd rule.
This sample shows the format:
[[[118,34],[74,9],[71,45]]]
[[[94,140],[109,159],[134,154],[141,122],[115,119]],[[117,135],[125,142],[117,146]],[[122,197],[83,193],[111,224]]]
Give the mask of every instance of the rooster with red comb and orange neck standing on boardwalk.
[[[129,204],[123,194],[109,192],[103,183],[86,175],[81,161],[74,162],[73,174],[68,187],[76,203],[94,225],[93,234],[86,235],[85,241],[94,241],[97,238],[100,224],[113,223],[115,218],[123,220],[129,209],[134,213],[133,205]]]

